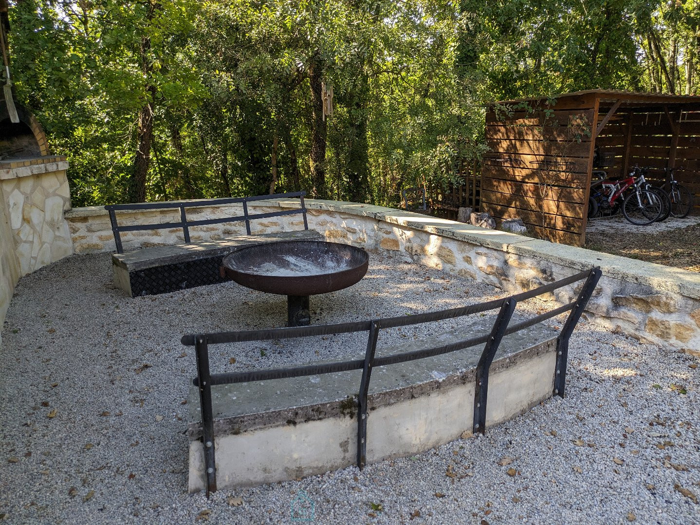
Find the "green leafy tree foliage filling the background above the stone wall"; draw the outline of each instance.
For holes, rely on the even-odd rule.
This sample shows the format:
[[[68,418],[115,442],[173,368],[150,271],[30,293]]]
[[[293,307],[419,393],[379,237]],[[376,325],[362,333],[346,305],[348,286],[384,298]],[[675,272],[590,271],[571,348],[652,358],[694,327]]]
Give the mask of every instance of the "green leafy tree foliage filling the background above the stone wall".
[[[311,190],[311,70],[335,92],[323,195],[397,205],[458,183],[495,100],[694,92],[697,0],[24,0],[13,75],[76,206],[127,199],[153,104],[148,200]],[[148,45],[144,47],[144,42]],[[276,145],[276,146],[275,146]]]

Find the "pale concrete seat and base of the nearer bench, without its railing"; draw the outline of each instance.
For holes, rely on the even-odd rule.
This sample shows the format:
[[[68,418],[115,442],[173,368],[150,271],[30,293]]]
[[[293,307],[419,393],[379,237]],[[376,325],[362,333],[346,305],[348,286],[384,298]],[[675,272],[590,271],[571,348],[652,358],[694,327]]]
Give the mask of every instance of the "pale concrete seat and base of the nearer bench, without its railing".
[[[517,322],[517,321],[512,321]],[[465,330],[377,350],[377,357],[431,348],[488,331]],[[486,426],[552,396],[556,330],[535,325],[503,338],[489,374]],[[482,346],[377,367],[368,397],[367,461],[411,456],[470,433]],[[218,489],[279,482],[356,464],[360,371],[211,388]],[[204,489],[200,400],[190,386],[189,490]]]

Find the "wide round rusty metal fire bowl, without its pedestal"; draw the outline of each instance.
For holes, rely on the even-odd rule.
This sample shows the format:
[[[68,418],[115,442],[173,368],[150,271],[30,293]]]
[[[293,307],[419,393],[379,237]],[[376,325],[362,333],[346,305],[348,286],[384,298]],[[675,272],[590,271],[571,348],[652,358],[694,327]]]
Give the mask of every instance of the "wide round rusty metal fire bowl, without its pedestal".
[[[316,295],[357,283],[367,273],[369,261],[367,252],[356,246],[276,241],[237,248],[223,259],[223,267],[233,281],[253,290]]]

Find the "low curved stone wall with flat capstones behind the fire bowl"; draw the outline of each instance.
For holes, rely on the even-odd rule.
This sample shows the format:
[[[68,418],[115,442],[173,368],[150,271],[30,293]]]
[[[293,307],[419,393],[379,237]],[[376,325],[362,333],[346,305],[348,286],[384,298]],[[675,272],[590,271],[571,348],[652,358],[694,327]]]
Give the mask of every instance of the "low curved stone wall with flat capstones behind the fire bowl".
[[[298,207],[298,200],[249,204],[251,213]],[[442,269],[503,288],[507,293],[536,288],[582,269],[600,266],[603,278],[589,302],[589,318],[631,337],[700,349],[700,274],[640,262],[496,230],[369,204],[307,200],[309,228],[328,241],[381,249],[402,260]],[[197,210],[208,218],[232,215],[237,207]],[[148,218],[146,217],[148,215]],[[170,214],[170,215],[167,215]],[[188,212],[188,215],[190,212]],[[124,214],[127,221],[163,222],[167,212]],[[112,251],[109,217],[102,208],[73,209],[66,214],[76,252]],[[255,232],[303,228],[300,216],[253,221]],[[193,241],[244,232],[243,223],[193,228]],[[182,242],[181,230],[133,232],[125,249]],[[563,290],[559,300],[570,300]],[[550,296],[550,298],[552,298]]]

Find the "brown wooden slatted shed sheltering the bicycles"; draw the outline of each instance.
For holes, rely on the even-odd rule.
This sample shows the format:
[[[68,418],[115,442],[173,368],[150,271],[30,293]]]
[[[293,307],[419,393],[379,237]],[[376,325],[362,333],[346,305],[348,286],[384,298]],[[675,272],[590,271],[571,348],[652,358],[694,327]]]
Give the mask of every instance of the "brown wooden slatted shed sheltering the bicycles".
[[[585,241],[594,152],[611,178],[634,165],[662,181],[665,167],[700,211],[700,97],[589,90],[493,104],[486,113],[482,211],[519,217],[537,237]]]

